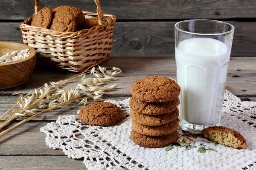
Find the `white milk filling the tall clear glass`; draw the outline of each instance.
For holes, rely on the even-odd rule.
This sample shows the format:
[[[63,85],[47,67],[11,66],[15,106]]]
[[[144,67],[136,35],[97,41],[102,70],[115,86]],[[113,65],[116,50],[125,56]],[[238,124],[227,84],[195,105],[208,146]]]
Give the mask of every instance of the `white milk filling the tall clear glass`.
[[[175,58],[183,120],[192,124],[216,121],[230,59],[227,46],[211,38],[191,38],[175,48]]]

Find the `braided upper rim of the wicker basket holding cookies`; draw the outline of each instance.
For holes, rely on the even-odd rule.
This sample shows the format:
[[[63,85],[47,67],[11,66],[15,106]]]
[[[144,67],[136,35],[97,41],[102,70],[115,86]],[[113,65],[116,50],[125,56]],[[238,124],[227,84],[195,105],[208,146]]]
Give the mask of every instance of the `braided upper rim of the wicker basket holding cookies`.
[[[95,16],[97,17],[97,13],[95,12],[89,12],[89,11],[82,11],[84,13],[84,15],[87,16]],[[103,27],[108,27],[113,25],[116,22],[116,17],[113,14],[103,14],[104,18],[108,18],[109,20],[107,20],[105,22],[104,25],[100,26],[99,24],[97,26],[94,26],[90,29],[82,29],[76,32],[58,32],[58,31],[53,31],[47,28],[41,28],[41,27],[35,27],[35,26],[30,26],[27,23],[29,23],[32,18],[35,16],[35,14],[33,14],[31,17],[29,17],[28,19],[24,20],[21,25],[20,25],[20,29],[23,31],[33,31],[33,32],[40,32],[42,34],[47,34],[47,35],[51,35],[53,37],[61,37],[61,38],[77,38],[80,36],[84,36],[87,34],[92,33],[93,31],[97,31]]]

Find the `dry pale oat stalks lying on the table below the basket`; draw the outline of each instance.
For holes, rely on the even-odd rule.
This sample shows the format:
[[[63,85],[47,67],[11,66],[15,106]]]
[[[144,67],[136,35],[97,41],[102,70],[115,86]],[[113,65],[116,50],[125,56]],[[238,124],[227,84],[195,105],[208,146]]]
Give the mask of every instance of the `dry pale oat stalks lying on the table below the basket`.
[[[89,69],[69,79],[45,83],[40,88],[30,91],[26,96],[21,94],[17,103],[0,117],[1,120],[8,113],[11,113],[0,124],[0,130],[14,119],[28,118],[23,119],[9,129],[3,130],[0,136],[3,136],[24,122],[35,119],[41,113],[58,109],[61,106],[69,108],[68,104],[72,102],[79,102],[79,104],[86,105],[87,99],[89,98],[99,101],[102,95],[107,94],[108,91],[112,91],[118,86],[118,84],[105,84],[116,80],[116,75],[122,73],[119,68],[102,68],[101,66],[95,68],[93,66],[93,68]],[[87,77],[87,74],[90,74],[90,76]],[[66,88],[62,87],[68,83],[73,83],[74,85]]]

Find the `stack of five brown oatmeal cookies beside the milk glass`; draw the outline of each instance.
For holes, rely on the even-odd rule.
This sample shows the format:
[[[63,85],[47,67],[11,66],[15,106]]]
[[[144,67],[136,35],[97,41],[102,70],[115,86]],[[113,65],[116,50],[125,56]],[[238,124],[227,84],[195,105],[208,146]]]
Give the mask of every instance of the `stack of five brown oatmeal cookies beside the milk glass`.
[[[178,136],[180,86],[161,76],[145,77],[131,86],[131,139],[143,147],[163,147]]]

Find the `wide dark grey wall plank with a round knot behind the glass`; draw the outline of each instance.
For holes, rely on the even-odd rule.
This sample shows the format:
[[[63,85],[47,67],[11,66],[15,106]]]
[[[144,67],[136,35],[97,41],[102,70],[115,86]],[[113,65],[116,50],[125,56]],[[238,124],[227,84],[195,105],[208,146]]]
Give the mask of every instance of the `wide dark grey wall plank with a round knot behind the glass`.
[[[231,56],[256,56],[255,22],[227,21],[235,26]],[[175,55],[176,22],[118,22],[114,26],[116,57],[171,57]],[[0,23],[0,41],[22,43],[20,23]]]

